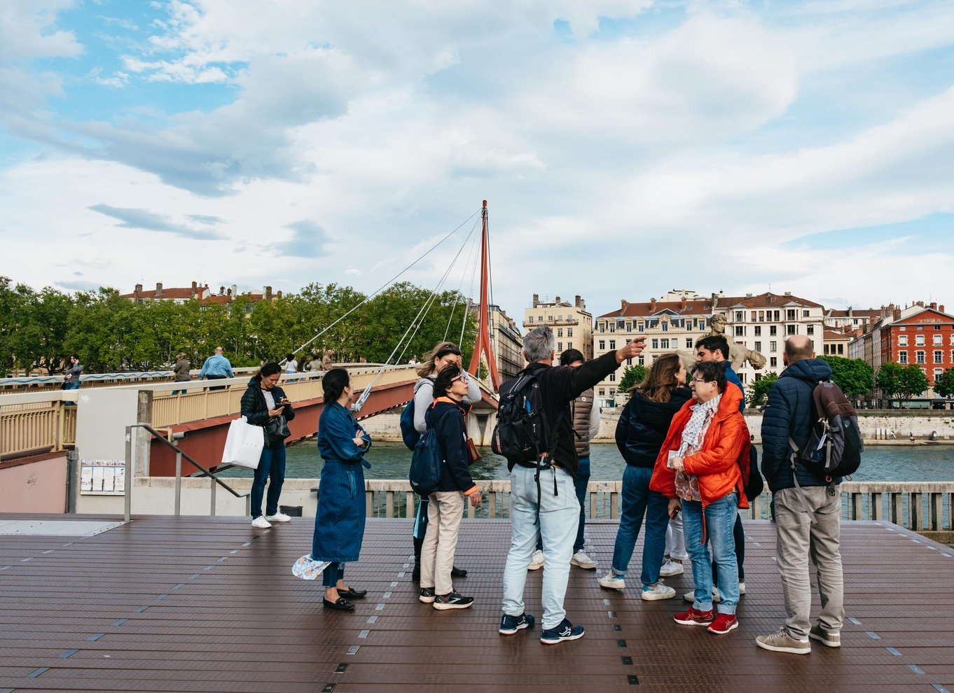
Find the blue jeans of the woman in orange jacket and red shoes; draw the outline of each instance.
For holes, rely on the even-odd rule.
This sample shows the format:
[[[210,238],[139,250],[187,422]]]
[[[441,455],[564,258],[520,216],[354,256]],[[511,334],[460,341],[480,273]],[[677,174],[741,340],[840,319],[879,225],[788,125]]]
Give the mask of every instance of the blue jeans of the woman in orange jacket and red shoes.
[[[702,510],[698,500],[682,501],[682,529],[686,535],[686,549],[693,561],[695,601],[693,608],[710,611],[713,607],[713,566],[718,568],[718,603],[720,614],[735,614],[738,603],[738,564],[733,527],[738,515],[738,495],[731,493]],[[706,540],[702,541],[705,522]],[[709,547],[712,546],[712,558]]]

